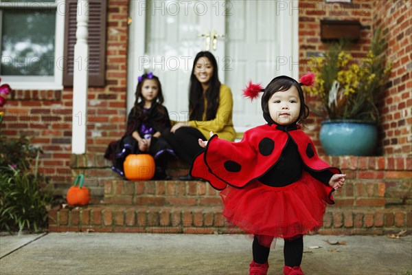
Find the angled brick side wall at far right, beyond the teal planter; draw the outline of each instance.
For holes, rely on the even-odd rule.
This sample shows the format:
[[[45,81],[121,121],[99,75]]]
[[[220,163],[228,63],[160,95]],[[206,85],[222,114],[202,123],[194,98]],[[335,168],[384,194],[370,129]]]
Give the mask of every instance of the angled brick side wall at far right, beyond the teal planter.
[[[380,1],[374,5],[374,28],[381,28],[387,60],[393,63],[382,102],[381,139],[385,155],[412,154],[412,3]]]

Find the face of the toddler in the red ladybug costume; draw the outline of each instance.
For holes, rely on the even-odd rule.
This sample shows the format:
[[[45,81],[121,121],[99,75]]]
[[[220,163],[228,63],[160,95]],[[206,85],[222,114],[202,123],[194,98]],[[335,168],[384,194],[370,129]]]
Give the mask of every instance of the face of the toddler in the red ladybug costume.
[[[268,102],[269,113],[274,122],[288,125],[299,118],[301,102],[295,86],[286,91],[277,91]]]

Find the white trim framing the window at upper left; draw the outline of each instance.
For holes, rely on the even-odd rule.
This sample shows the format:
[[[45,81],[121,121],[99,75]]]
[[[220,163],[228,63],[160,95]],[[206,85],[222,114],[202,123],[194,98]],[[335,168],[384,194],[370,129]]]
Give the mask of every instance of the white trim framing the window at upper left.
[[[1,3],[0,8],[10,8],[8,3]],[[11,3],[13,5],[17,3]],[[27,4],[27,3],[20,3]],[[46,5],[47,4],[47,5]],[[63,52],[65,41],[65,12],[59,7],[65,5],[65,0],[56,0],[55,3],[45,3],[42,8],[56,8],[56,32],[54,43],[54,76],[1,76],[3,83],[8,83],[12,89],[22,90],[61,90],[63,89]],[[39,8],[40,5],[36,5]],[[24,5],[24,8],[30,8]]]

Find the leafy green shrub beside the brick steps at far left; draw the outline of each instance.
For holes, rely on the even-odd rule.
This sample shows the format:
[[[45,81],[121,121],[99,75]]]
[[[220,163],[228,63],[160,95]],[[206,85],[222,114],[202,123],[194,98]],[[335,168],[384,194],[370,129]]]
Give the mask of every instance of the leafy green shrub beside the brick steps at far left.
[[[47,210],[53,198],[48,179],[38,174],[40,150],[26,137],[0,140],[0,230],[38,232],[47,225]],[[36,164],[30,170],[30,162]]]

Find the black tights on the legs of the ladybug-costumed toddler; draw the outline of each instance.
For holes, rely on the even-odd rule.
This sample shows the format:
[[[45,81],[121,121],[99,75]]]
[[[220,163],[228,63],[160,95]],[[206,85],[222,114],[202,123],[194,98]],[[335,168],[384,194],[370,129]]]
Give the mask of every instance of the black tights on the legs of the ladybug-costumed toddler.
[[[301,265],[302,256],[304,255],[304,237],[299,235],[284,241],[285,265],[290,267]],[[266,263],[268,261],[269,252],[271,252],[270,243],[267,246],[261,245],[258,236],[255,236],[252,249],[255,263]]]

